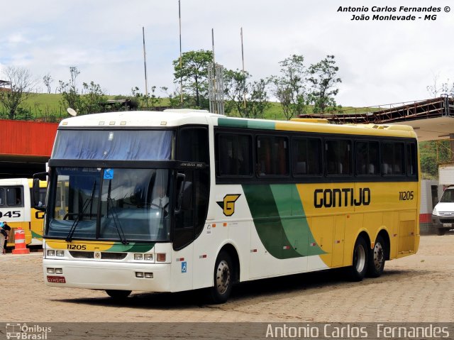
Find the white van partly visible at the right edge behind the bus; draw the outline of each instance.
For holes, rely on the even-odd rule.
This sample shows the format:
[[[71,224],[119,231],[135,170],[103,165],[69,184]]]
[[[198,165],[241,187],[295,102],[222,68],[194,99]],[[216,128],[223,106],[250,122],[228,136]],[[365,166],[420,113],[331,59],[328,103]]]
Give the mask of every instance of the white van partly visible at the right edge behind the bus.
[[[454,229],[454,185],[445,189],[440,202],[433,208],[432,223],[438,235]]]

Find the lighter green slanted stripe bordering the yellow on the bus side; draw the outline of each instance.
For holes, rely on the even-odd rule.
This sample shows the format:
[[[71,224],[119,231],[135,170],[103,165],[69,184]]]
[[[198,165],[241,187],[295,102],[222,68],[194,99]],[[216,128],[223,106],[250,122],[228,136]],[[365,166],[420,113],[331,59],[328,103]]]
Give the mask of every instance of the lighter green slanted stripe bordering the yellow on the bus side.
[[[314,236],[309,229],[309,223],[304,214],[296,185],[271,185],[271,191],[276,202],[277,210],[281,218],[284,233],[289,240],[289,246],[295,249],[301,256],[321,255],[325,252],[316,246]]]

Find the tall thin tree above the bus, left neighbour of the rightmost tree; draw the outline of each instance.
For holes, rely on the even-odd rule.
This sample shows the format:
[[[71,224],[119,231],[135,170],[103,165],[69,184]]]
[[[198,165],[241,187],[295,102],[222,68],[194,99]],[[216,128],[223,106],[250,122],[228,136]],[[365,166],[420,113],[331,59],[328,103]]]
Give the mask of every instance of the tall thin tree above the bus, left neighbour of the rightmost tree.
[[[306,75],[302,55],[292,55],[279,62],[281,75],[270,77],[273,94],[282,106],[287,120],[306,112]]]

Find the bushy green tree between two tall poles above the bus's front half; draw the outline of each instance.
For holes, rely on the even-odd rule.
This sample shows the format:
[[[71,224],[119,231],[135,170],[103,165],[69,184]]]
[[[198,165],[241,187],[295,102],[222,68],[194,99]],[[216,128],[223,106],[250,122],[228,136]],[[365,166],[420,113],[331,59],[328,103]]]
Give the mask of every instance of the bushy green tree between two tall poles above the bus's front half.
[[[180,67],[179,58],[174,60],[175,84],[179,84],[180,79],[183,85],[184,106],[196,106],[197,108],[207,109],[208,99],[208,66],[213,63],[213,52],[210,50],[198,50],[182,53]]]

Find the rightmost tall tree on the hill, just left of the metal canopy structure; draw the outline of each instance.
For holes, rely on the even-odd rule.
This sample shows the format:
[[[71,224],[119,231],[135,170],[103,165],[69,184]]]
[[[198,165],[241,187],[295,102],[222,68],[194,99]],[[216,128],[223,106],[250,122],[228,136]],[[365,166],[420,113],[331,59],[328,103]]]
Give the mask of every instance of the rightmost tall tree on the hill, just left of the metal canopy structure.
[[[334,55],[327,55],[325,59],[309,67],[308,80],[311,83],[309,101],[314,104],[314,113],[338,108],[334,99],[339,92],[336,85],[342,82],[341,78],[337,77],[338,70]]]

